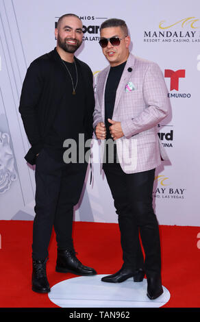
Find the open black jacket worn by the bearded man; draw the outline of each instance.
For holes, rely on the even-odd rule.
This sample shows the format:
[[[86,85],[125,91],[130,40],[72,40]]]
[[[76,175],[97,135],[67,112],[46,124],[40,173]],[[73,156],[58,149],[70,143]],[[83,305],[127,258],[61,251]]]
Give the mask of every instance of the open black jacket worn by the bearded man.
[[[92,114],[95,108],[93,75],[90,67],[75,58],[84,77],[86,92],[86,116],[84,120],[85,139],[92,138]],[[25,75],[21,91],[19,112],[27,138],[32,147],[25,156],[29,164],[35,164],[36,154],[43,147],[43,138],[48,134],[55,118],[56,108],[66,90],[66,70],[60,55],[54,49],[34,60]]]

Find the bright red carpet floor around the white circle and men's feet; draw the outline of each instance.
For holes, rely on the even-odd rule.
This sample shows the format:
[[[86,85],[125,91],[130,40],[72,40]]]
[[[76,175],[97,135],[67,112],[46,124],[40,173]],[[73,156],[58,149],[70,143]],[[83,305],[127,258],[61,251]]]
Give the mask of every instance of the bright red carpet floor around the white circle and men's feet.
[[[160,226],[162,284],[171,293],[165,308],[200,307],[200,227]],[[34,293],[32,275],[32,221],[0,221],[0,307],[56,308],[48,295]],[[74,223],[77,257],[98,274],[121,268],[120,234],[117,224]],[[55,234],[49,246],[47,275],[51,286],[74,277],[55,272]]]

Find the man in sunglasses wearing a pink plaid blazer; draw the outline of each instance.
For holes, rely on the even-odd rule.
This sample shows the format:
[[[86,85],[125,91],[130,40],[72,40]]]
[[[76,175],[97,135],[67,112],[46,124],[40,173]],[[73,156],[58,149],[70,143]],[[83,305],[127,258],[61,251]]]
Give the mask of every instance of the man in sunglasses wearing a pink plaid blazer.
[[[134,277],[141,282],[146,274],[147,296],[155,299],[163,289],[152,192],[155,168],[168,159],[158,138],[158,123],[170,109],[168,91],[158,64],[129,52],[125,21],[109,19],[100,33],[99,44],[110,66],[97,76],[93,126],[101,140],[103,171],[118,214],[123,249],[123,267],[102,281]]]

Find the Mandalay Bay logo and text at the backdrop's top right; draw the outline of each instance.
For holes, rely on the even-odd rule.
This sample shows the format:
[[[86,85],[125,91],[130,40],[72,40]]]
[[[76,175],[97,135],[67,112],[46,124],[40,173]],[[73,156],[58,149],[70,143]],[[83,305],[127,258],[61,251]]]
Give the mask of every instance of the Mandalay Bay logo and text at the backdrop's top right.
[[[200,19],[189,16],[179,21],[163,20],[156,30],[144,31],[144,42],[200,42]]]

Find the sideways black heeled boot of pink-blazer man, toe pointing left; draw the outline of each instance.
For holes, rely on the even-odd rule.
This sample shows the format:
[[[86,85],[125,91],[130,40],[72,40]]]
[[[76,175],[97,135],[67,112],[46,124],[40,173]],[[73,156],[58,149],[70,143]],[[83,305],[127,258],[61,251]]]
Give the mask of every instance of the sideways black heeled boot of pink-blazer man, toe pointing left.
[[[135,282],[142,282],[144,275],[145,273],[142,271],[142,269],[136,272],[132,269],[122,267],[118,272],[102,277],[101,281],[108,283],[121,283],[127,280],[129,277],[136,276]]]

